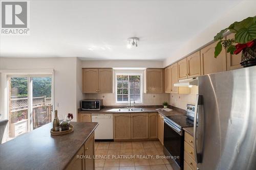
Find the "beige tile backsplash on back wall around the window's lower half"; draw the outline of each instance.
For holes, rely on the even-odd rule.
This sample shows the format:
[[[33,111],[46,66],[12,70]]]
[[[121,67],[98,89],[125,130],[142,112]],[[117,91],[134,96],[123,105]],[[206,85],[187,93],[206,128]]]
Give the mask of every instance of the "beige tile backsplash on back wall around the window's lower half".
[[[143,93],[143,104],[135,105],[162,105],[164,101],[170,101],[169,97],[166,93]],[[127,105],[115,104],[115,93],[86,94],[86,99],[103,99],[104,106]]]

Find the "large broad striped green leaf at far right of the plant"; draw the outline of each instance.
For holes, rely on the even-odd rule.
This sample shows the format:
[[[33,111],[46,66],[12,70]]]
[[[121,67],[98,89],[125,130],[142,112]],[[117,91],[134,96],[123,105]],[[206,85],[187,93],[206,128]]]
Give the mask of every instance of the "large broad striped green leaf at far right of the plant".
[[[248,28],[243,28],[235,35],[237,42],[244,44],[256,39],[256,23]]]

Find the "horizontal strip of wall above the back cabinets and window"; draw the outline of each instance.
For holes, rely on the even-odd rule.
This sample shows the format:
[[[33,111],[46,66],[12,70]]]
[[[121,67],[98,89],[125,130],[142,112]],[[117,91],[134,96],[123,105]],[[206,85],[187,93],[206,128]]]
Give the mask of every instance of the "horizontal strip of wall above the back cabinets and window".
[[[82,61],[83,68],[112,68],[112,67],[133,67],[133,68],[163,68],[163,61],[151,60],[87,60]]]

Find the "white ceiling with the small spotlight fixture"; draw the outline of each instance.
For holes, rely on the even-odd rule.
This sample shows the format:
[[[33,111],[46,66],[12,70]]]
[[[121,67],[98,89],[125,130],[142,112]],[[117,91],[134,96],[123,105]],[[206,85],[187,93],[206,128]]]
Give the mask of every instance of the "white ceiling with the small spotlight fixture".
[[[1,36],[0,56],[164,60],[239,2],[31,1],[30,35]]]

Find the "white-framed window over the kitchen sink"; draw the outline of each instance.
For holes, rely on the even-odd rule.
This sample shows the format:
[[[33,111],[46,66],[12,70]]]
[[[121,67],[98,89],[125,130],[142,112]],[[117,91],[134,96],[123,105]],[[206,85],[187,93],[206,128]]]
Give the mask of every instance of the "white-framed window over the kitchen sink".
[[[143,102],[143,72],[115,74],[115,102],[116,103],[142,103]]]

